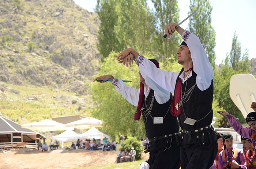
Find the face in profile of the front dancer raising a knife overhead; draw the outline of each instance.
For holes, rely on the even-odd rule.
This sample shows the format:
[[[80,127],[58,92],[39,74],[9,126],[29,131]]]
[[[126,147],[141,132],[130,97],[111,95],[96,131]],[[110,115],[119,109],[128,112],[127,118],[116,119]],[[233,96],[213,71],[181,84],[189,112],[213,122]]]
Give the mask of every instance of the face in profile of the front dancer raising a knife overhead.
[[[191,52],[189,51],[189,48],[185,45],[181,45],[176,53],[177,53],[178,63],[180,63],[182,65],[185,62],[192,60]]]

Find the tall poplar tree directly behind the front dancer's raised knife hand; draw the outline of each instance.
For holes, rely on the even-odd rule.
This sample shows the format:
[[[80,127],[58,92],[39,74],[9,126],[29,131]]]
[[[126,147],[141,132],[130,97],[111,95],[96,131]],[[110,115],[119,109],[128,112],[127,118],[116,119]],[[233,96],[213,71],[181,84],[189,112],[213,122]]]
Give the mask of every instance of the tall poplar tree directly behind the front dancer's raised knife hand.
[[[171,35],[171,38],[163,38],[165,26],[169,23],[179,22],[178,1],[177,0],[152,0],[155,7],[155,18],[157,19],[157,36],[155,36],[154,50],[158,51],[161,56],[173,57],[181,42],[181,36],[178,33]],[[172,60],[173,61],[173,60]]]

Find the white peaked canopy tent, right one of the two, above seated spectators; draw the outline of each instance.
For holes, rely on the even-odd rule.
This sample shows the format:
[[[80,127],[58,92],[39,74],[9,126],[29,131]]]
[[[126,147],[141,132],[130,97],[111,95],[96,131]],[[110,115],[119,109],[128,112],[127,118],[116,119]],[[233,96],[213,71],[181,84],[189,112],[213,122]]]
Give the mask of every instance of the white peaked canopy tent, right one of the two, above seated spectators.
[[[105,138],[105,137],[108,138],[108,139],[110,138],[109,135],[101,133],[101,131],[97,130],[95,127],[91,127],[90,130],[88,130],[88,131],[86,131],[82,134],[79,134],[80,139],[87,139],[87,138],[93,139],[93,138],[95,138],[95,139],[103,140],[103,138]]]

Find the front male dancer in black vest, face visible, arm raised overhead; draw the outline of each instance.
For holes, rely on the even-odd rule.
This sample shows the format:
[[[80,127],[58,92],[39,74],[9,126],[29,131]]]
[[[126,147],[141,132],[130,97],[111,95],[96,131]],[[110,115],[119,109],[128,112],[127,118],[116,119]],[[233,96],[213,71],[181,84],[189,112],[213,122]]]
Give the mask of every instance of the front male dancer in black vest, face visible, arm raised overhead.
[[[142,75],[174,93],[171,113],[178,116],[181,127],[177,137],[181,148],[181,168],[209,169],[218,152],[217,137],[210,125],[214,72],[197,36],[181,27],[175,29],[176,26],[176,23],[168,24],[165,33],[169,38],[169,32],[177,31],[184,40],[177,51],[178,63],[183,66],[180,73],[155,68],[147,58],[131,48],[121,52],[117,59],[127,65],[135,57]]]

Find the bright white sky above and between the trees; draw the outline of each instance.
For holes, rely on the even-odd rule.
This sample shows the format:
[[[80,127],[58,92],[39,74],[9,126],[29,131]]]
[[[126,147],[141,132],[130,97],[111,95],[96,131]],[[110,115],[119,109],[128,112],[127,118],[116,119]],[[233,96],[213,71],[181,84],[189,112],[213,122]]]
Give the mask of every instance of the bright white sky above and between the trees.
[[[74,0],[80,7],[94,12],[97,0]],[[148,6],[153,8],[150,0]],[[180,21],[188,16],[189,0],[178,0],[180,8]],[[254,49],[256,39],[256,1],[255,0],[210,0],[213,7],[212,10],[212,27],[216,32],[216,64],[222,63],[226,53],[230,52],[232,38],[234,32],[238,35],[238,40],[241,42],[242,53],[245,48],[249,50],[249,59],[256,58],[256,50]],[[181,27],[187,28],[189,20],[181,24]]]

